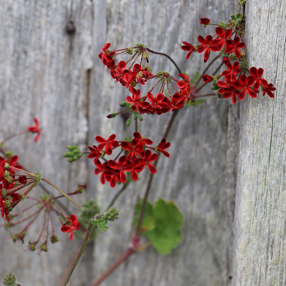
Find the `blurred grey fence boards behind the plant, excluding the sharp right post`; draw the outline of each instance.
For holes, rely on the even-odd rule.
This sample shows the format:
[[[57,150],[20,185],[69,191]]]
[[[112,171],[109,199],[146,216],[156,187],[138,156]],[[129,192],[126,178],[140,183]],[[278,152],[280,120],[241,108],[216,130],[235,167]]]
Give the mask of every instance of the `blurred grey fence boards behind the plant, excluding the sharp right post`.
[[[13,140],[9,148],[21,162],[37,170],[64,190],[88,182],[81,201],[95,198],[105,208],[116,189],[102,186],[94,176],[92,160],[69,165],[61,156],[68,144],[83,149],[94,144],[97,135],[112,133],[130,136],[132,125],[108,120],[118,103],[128,95],[115,85],[98,59],[106,42],[122,48],[136,42],[166,52],[190,76],[202,70],[201,55],[186,61],[180,50],[183,40],[195,43],[198,34],[212,33],[199,24],[211,15],[212,21],[227,21],[235,6],[225,0],[216,7],[209,1],[6,1],[0,7],[0,92],[1,138],[11,128],[22,130],[38,116],[42,126],[39,144],[31,136]],[[222,9],[223,7],[223,9]],[[64,27],[72,14],[77,31],[68,36]],[[3,41],[2,39],[5,39]],[[162,69],[177,75],[164,57],[150,55],[153,72]],[[103,285],[222,285],[225,270],[224,213],[227,153],[228,102],[208,99],[199,108],[185,109],[177,116],[168,141],[170,158],[160,158],[150,200],[174,200],[182,211],[184,239],[172,255],[161,257],[154,249],[138,253],[122,265]],[[145,116],[139,131],[160,142],[158,130],[170,114]],[[20,120],[21,118],[21,120]],[[17,124],[15,124],[17,122]],[[143,134],[144,133],[144,134]],[[25,146],[25,150],[23,150]],[[146,174],[144,174],[145,176]],[[146,177],[132,184],[116,202],[120,220],[100,233],[88,247],[69,285],[89,285],[128,246],[132,232],[133,208],[144,195]],[[70,205],[69,205],[70,207]],[[36,229],[31,229],[36,237]],[[231,236],[227,230],[227,237]],[[23,246],[1,244],[1,256],[10,257],[1,265],[1,275],[15,272],[29,285],[57,285],[77,241],[66,234],[46,254],[22,253]],[[7,233],[1,231],[1,238]],[[26,242],[25,242],[26,243]],[[31,275],[29,269],[39,269]],[[52,273],[52,275],[51,275]],[[222,276],[221,273],[224,273]],[[225,275],[226,273],[226,275]]]

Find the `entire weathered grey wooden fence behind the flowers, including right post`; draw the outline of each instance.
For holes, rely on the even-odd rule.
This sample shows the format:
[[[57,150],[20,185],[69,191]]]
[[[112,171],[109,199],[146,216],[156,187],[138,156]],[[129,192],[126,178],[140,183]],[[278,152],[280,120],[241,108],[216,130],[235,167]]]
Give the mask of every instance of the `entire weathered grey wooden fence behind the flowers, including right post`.
[[[180,111],[168,137],[171,156],[159,159],[149,199],[174,200],[184,215],[183,241],[171,255],[153,248],[133,255],[102,285],[286,285],[286,5],[247,3],[249,64],[264,68],[277,88],[274,100],[260,94],[240,106],[208,98]],[[106,118],[129,92],[105,71],[101,48],[107,42],[113,49],[144,43],[193,77],[204,69],[202,55],[186,60],[182,41],[196,43],[198,35],[213,33],[200,18],[226,22],[234,11],[239,5],[230,0],[2,1],[0,138],[25,130],[34,116],[42,128],[39,142],[27,134],[5,147],[66,192],[87,183],[80,203],[93,198],[105,209],[118,188],[102,185],[86,156],[72,164],[62,157],[67,145],[87,150],[97,135],[116,133],[120,140],[119,134],[134,132],[121,117]],[[65,33],[69,20],[76,25],[74,35]],[[163,56],[150,54],[149,65],[153,73],[178,74]],[[139,132],[158,144],[170,116],[145,115]],[[90,285],[128,247],[134,204],[144,195],[147,175],[116,201],[120,219],[88,246],[68,285]],[[42,194],[40,188],[36,192]],[[58,225],[59,242],[48,244],[47,253],[24,252],[39,230],[40,223],[22,245],[6,241],[9,233],[1,228],[0,278],[11,271],[24,285],[59,285],[79,241],[70,242]]]

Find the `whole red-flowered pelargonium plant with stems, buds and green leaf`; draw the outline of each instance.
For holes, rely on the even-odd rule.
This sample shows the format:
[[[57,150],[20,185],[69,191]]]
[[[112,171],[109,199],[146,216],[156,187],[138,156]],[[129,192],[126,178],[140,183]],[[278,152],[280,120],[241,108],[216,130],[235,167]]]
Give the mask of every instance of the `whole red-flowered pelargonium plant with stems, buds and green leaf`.
[[[168,55],[152,51],[142,43],[123,49],[111,49],[111,43],[106,43],[100,51],[98,56],[103,65],[106,66],[112,80],[120,83],[123,88],[130,92],[126,99],[120,103],[124,110],[108,114],[107,117],[115,118],[118,114],[127,112],[126,125],[129,126],[134,120],[135,130],[130,132],[129,138],[120,138],[120,134],[110,134],[108,138],[103,138],[97,134],[95,142],[91,143],[88,150],[80,150],[78,146],[71,145],[67,146],[67,152],[63,156],[69,162],[79,160],[83,155],[92,159],[94,161],[94,174],[100,176],[100,182],[110,185],[111,188],[120,184],[122,187],[119,194],[128,184],[138,180],[138,174],[142,170],[148,170],[150,176],[145,196],[135,206],[137,215],[134,217],[134,227],[136,230],[130,239],[128,249],[110,269],[107,269],[106,273],[92,284],[93,286],[99,285],[120,263],[136,251],[142,251],[152,245],[160,254],[168,254],[182,239],[182,214],[176,205],[161,198],[154,205],[147,200],[152,176],[156,174],[158,157],[160,154],[166,157],[172,156],[168,152],[171,142],[168,142],[167,137],[178,111],[181,108],[202,104],[204,100],[201,98],[206,96],[217,96],[220,100],[231,98],[233,104],[237,100],[243,100],[247,95],[256,98],[260,90],[263,96],[267,94],[270,98],[274,97],[273,91],[276,88],[263,78],[263,68],[248,67],[244,40],[245,1],[239,1],[239,3],[243,6],[243,14],[231,15],[231,19],[227,23],[216,24],[210,23],[208,18],[200,19],[200,23],[204,27],[214,26],[213,35],[198,35],[196,43],[182,41],[181,49],[187,52],[186,60],[190,60],[196,52],[203,54],[203,61],[207,66],[197,78],[190,80],[189,76],[182,72]],[[149,53],[168,57],[175,64],[178,77],[172,76],[166,71],[152,72],[148,59]],[[216,53],[216,56],[210,60],[212,53]],[[125,60],[116,61],[117,56],[122,54]],[[212,74],[207,74],[206,72],[212,65],[215,65],[215,71]],[[201,79],[202,84],[200,83]],[[212,84],[212,91],[208,94],[200,94],[201,89],[208,83]],[[147,86],[151,86],[151,88],[146,88]],[[137,127],[139,122],[143,120],[143,115],[156,114],[160,116],[168,112],[171,112],[170,120],[166,130],[162,133],[160,142],[154,143],[152,138],[146,138],[144,133],[138,132]],[[37,142],[40,138],[41,129],[39,120],[34,118],[34,121],[34,126],[29,126],[27,130],[13,134],[1,142],[1,216],[6,221],[4,227],[9,231],[11,239],[24,243],[29,227],[38,221],[39,215],[42,213],[41,231],[35,240],[28,241],[27,246],[27,250],[35,251],[37,249],[38,253],[48,250],[48,238],[51,243],[58,241],[56,233],[59,231],[67,233],[69,240],[74,238],[74,234],[83,231],[81,232],[84,233],[82,246],[62,284],[67,285],[94,229],[106,231],[108,229],[107,223],[118,219],[119,212],[113,206],[115,199],[105,211],[101,211],[101,208],[93,200],[81,206],[72,196],[84,192],[87,188],[85,184],[78,184],[73,192],[66,193],[43,178],[39,172],[32,173],[24,170],[18,163],[18,156],[5,150],[5,142],[27,132],[35,133],[35,142]],[[59,195],[51,196],[44,193],[39,198],[31,197],[30,191],[40,182],[53,186],[59,191]],[[58,200],[62,197],[66,197],[79,208],[78,214],[67,212]],[[23,200],[30,200],[30,206],[15,213],[14,208],[18,204],[21,205]],[[28,210],[34,211],[25,216]],[[57,224],[53,221],[52,213],[58,218]],[[168,213],[169,216],[158,215],[165,213]],[[25,217],[18,219],[17,217],[20,215]],[[23,227],[17,233],[13,233],[12,229],[17,225],[23,225]],[[159,227],[161,225],[172,225],[172,227],[166,231]],[[148,244],[141,242],[142,236],[149,239]],[[11,273],[7,275],[4,279],[4,283],[6,283],[4,285],[10,285],[7,284],[10,283],[9,281],[15,282],[15,275],[11,275]],[[19,285],[17,282],[15,283],[15,285]]]

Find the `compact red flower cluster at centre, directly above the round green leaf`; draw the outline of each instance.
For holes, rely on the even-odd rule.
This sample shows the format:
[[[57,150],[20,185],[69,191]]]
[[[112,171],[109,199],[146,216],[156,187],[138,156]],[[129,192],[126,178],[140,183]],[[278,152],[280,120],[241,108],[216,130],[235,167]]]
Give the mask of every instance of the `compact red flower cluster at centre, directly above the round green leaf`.
[[[101,136],[96,136],[95,140],[100,144],[98,146],[89,146],[90,154],[88,158],[94,159],[94,164],[96,166],[94,173],[96,175],[100,174],[100,181],[104,184],[106,181],[110,182],[110,186],[113,188],[117,182],[125,183],[127,181],[126,172],[131,172],[131,177],[133,180],[138,180],[138,173],[141,172],[146,166],[152,174],[156,173],[156,168],[152,162],[158,158],[158,154],[153,153],[152,150],[156,152],[162,152],[165,156],[169,157],[169,153],[164,149],[170,147],[170,143],[166,142],[163,138],[158,146],[151,147],[146,145],[152,145],[153,142],[148,138],[143,138],[139,132],[133,133],[134,138],[130,141],[122,141],[120,146],[124,151],[124,155],[116,156],[115,160],[106,160],[105,155],[111,155],[114,148],[119,146],[119,142],[115,140],[116,135],[112,134],[107,139]],[[146,147],[148,148],[146,150]],[[104,151],[103,151],[104,149]],[[105,159],[102,163],[100,158]]]

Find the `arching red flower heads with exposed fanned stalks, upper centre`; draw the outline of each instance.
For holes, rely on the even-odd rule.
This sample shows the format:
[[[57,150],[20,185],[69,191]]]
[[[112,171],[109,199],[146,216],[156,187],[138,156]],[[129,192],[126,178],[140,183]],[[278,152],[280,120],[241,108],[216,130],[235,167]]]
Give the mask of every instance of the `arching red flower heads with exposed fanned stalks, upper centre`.
[[[128,106],[133,112],[144,114],[157,114],[166,113],[169,111],[175,111],[182,108],[185,102],[189,102],[192,92],[192,84],[189,77],[185,74],[179,74],[182,80],[178,80],[171,76],[168,72],[158,72],[153,75],[150,67],[148,67],[148,49],[142,45],[137,44],[134,47],[127,49],[109,51],[110,43],[107,43],[102,51],[99,53],[99,57],[103,64],[110,69],[110,74],[114,78],[115,82],[120,82],[126,89],[128,89],[132,96],[126,97],[126,102],[122,106]],[[133,55],[133,49],[134,55]],[[113,57],[119,53],[126,52],[132,54],[132,57],[127,61],[119,61],[115,64]],[[135,63],[137,57],[141,55],[140,63]],[[145,65],[142,65],[142,60],[145,59]],[[132,63],[128,67],[127,64]],[[141,90],[135,87],[139,85],[145,85],[148,80],[157,79],[157,82],[145,95],[142,96]],[[176,82],[176,86],[173,82]],[[161,83],[160,90],[157,94],[153,94],[152,90],[156,85]],[[163,94],[164,86],[167,86],[168,96]],[[171,87],[174,92],[171,93]],[[109,116],[113,117],[113,116]]]

